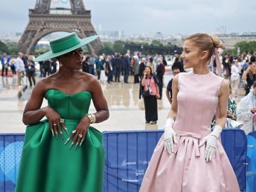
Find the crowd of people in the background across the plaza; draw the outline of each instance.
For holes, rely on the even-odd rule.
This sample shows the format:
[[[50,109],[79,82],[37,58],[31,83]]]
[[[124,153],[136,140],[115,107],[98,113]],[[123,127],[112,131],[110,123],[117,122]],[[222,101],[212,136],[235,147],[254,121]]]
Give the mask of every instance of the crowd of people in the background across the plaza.
[[[228,102],[229,110],[227,110],[227,117],[233,119],[233,121],[240,122],[243,124],[242,128],[245,129],[245,132],[250,132],[252,126],[248,126],[248,124],[252,124],[251,117],[256,111],[255,102],[250,101],[254,97],[256,100],[256,92],[254,94],[253,90],[251,90],[252,85],[256,86],[254,85],[256,80],[255,53],[246,51],[238,56],[232,56],[230,54],[222,56],[222,51],[220,50],[218,54],[222,62],[221,76],[229,80],[230,90],[232,90],[230,92],[230,102]],[[21,87],[23,85],[23,78],[26,77],[28,78],[30,87],[35,86],[36,66],[34,59],[33,54],[26,56],[20,52],[18,53],[18,57],[14,58],[4,53],[1,57],[1,76],[17,76],[17,84]],[[57,66],[59,65],[58,60],[55,58],[40,61],[38,64],[40,72],[38,77],[40,78],[45,78],[48,75],[56,73],[58,70]],[[156,124],[158,120],[157,99],[163,97],[163,78],[166,65],[164,55],[155,54],[150,56],[146,54],[142,57],[141,54],[137,52],[132,54],[129,50],[127,50],[127,53],[112,53],[111,55],[105,55],[103,53],[100,56],[85,53],[82,58],[82,71],[97,76],[100,82],[111,84],[111,82],[120,82],[120,80],[123,80],[124,83],[139,83],[139,98],[143,97],[144,99],[145,119],[146,123],[150,124]],[[208,68],[218,75],[215,60],[213,63],[208,63]],[[8,73],[9,70],[11,70],[11,74]],[[174,76],[178,73],[186,73],[188,71],[184,70],[183,60],[180,55],[174,55],[171,71]],[[123,76],[123,78],[120,78],[120,76]],[[170,104],[172,103],[171,87],[172,79],[166,85],[164,95]],[[237,104],[233,100],[233,97],[237,98],[238,95],[241,95],[241,93],[239,94],[239,90],[245,90],[246,97],[242,98],[242,102],[238,104],[237,109]],[[146,92],[149,92],[149,94],[146,95]],[[242,113],[245,110],[245,105],[242,104],[245,100],[247,100],[246,107],[250,107],[250,112],[247,115]],[[230,107],[233,107],[232,112]],[[215,119],[213,119],[211,126],[213,127],[214,124]]]

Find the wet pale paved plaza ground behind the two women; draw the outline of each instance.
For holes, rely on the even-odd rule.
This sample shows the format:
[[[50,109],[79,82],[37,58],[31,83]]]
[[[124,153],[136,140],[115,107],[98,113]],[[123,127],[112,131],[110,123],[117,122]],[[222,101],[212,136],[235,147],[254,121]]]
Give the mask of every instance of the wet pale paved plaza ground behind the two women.
[[[165,96],[166,85],[171,77],[171,75],[164,76],[164,97],[158,101],[159,121],[154,125],[145,124],[144,102],[143,99],[139,100],[139,84],[132,83],[133,76],[129,77],[129,84],[124,84],[122,80],[111,84],[101,82],[110,110],[110,118],[93,126],[100,131],[161,129],[171,107]],[[22,122],[22,113],[32,89],[29,86],[26,90],[24,87],[17,87],[16,77],[0,77],[0,79],[0,132],[23,133],[26,126]],[[24,79],[24,85],[28,85],[28,80]],[[47,106],[47,100],[43,101],[42,106]],[[89,112],[95,112],[92,102]]]

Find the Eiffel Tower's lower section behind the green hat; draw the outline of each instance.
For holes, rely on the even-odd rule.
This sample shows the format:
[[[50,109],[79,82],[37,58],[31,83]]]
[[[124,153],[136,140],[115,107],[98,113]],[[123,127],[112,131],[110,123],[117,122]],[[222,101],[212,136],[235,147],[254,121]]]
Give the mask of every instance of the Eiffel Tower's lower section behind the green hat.
[[[80,38],[96,35],[91,23],[90,11],[85,10],[82,0],[70,0],[70,9],[50,9],[51,0],[36,0],[34,9],[29,9],[29,22],[18,41],[18,50],[26,55],[33,53],[36,43],[48,33],[56,31],[76,32]],[[102,49],[99,39],[87,45],[89,53]]]

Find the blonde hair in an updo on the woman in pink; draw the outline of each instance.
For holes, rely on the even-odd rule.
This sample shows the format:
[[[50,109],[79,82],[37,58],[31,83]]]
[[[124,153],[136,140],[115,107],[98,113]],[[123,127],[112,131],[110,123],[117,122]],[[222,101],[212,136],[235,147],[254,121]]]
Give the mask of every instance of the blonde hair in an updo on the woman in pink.
[[[223,42],[220,41],[218,36],[208,35],[206,33],[196,33],[191,36],[188,36],[186,40],[191,40],[195,43],[196,47],[201,51],[207,51],[208,57],[207,60],[210,60],[211,56],[215,52],[215,48],[222,48]]]

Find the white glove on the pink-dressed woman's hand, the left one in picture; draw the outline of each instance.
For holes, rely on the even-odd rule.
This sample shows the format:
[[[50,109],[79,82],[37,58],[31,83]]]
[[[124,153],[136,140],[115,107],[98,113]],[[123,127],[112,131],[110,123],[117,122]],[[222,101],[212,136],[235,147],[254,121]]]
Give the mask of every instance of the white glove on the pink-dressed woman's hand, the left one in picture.
[[[177,143],[176,133],[172,128],[174,125],[174,119],[166,119],[166,125],[164,126],[164,150],[167,150],[169,155],[174,152],[174,143]]]

